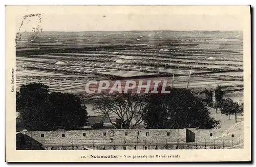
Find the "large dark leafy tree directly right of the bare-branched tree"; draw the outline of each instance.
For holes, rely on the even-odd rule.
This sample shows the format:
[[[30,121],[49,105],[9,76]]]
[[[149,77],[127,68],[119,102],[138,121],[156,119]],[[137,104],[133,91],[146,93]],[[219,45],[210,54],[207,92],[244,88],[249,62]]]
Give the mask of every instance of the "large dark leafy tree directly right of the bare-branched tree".
[[[219,125],[219,121],[210,117],[206,104],[188,89],[167,87],[166,90],[170,93],[147,96],[143,109],[145,128],[211,129]]]

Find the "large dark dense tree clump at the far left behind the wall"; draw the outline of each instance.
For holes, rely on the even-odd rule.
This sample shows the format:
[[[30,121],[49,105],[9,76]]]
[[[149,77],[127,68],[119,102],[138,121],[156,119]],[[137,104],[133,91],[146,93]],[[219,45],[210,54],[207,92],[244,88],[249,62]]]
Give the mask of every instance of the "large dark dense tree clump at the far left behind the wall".
[[[22,85],[16,93],[16,111],[27,130],[79,129],[87,122],[87,110],[78,97],[49,93],[40,83]]]

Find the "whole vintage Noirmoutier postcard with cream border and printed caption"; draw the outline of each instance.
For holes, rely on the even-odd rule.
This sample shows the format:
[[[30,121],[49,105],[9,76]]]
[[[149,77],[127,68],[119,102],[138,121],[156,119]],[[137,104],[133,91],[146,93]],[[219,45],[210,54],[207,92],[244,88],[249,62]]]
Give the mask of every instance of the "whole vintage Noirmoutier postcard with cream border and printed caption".
[[[6,6],[6,161],[250,161],[250,31],[250,6]]]

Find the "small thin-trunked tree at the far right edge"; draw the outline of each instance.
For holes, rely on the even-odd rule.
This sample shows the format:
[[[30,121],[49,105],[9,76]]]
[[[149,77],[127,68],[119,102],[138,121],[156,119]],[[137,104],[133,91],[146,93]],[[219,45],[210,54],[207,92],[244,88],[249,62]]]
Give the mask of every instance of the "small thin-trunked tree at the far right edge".
[[[244,112],[244,103],[241,105],[238,102],[231,100],[230,98],[224,99],[221,105],[221,114],[228,116],[230,119],[230,115],[235,115],[236,123],[237,123],[237,114],[243,115]]]

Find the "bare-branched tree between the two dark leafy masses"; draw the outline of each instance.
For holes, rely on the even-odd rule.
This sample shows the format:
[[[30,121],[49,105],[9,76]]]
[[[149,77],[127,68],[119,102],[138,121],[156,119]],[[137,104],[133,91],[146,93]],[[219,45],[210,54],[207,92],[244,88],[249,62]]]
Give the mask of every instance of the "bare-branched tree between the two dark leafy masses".
[[[142,95],[122,93],[95,100],[93,110],[108,119],[115,129],[133,129],[143,121],[143,106]],[[112,117],[117,118],[116,123],[112,121]]]

